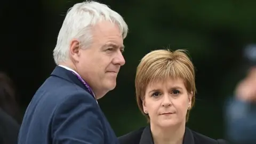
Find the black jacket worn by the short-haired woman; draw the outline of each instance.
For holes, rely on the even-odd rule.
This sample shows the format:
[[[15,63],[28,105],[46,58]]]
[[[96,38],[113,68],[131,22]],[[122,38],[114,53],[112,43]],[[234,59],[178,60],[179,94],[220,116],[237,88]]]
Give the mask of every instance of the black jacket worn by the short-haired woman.
[[[127,133],[118,138],[120,144],[154,144],[150,126]],[[214,140],[205,135],[191,131],[186,127],[183,144],[226,144],[225,140]]]

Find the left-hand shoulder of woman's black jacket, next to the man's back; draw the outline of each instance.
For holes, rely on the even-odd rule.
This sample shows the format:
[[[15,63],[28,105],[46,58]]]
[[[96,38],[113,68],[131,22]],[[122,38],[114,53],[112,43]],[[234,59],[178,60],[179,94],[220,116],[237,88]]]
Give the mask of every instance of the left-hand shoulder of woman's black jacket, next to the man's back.
[[[120,144],[136,144],[140,142],[141,134],[145,127],[141,127],[139,130],[135,130],[118,137]]]

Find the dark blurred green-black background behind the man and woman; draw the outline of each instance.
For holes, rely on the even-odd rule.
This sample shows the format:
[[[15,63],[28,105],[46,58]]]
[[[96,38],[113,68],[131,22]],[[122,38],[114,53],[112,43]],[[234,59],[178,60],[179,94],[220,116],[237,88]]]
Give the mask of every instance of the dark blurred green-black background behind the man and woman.
[[[76,2],[82,1],[1,1],[0,70],[13,79],[22,113],[55,67],[52,51]],[[256,42],[256,1],[99,2],[121,14],[130,29],[116,89],[99,100],[116,135],[146,125],[135,101],[136,67],[148,52],[169,47],[188,50],[196,67],[196,103],[187,125],[224,137],[225,100],[245,74],[243,48]]]

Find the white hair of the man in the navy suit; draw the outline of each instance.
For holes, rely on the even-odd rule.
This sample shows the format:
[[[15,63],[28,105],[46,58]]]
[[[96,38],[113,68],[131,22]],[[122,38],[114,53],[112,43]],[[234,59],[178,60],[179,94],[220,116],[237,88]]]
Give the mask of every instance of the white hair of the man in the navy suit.
[[[123,39],[127,35],[128,26],[117,12],[111,10],[107,5],[94,1],[77,3],[71,7],[63,21],[57,44],[53,50],[53,58],[58,65],[69,59],[69,46],[71,39],[78,39],[83,48],[88,47],[92,35],[90,27],[101,20],[116,23],[121,30]]]

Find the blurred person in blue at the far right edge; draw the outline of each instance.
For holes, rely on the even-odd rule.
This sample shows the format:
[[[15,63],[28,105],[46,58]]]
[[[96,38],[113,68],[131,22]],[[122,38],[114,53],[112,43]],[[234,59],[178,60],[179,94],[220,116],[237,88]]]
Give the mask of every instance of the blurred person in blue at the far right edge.
[[[245,50],[247,76],[237,85],[236,97],[226,107],[227,136],[232,143],[256,143],[256,45]]]

